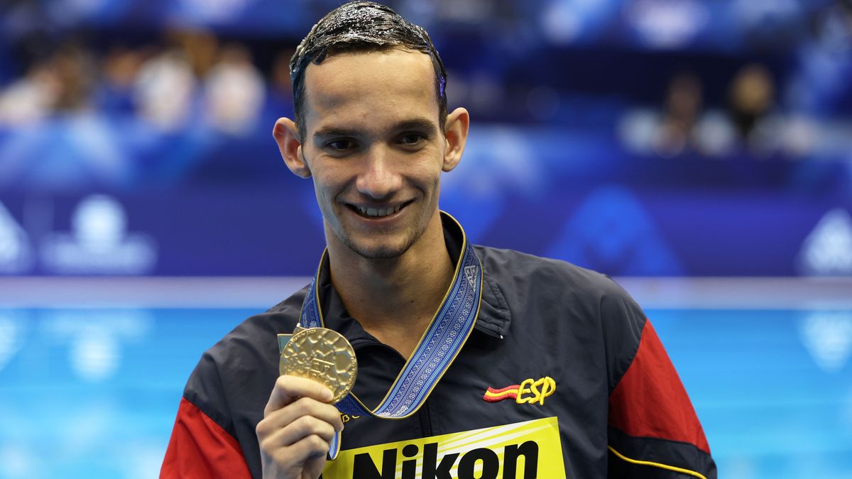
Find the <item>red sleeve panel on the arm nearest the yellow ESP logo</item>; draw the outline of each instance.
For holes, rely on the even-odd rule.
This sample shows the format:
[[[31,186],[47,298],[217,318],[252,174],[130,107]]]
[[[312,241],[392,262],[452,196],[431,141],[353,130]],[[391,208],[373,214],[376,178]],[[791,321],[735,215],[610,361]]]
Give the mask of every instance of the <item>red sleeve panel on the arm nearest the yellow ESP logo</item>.
[[[636,357],[609,396],[609,425],[635,437],[655,437],[710,446],[698,416],[650,321]]]

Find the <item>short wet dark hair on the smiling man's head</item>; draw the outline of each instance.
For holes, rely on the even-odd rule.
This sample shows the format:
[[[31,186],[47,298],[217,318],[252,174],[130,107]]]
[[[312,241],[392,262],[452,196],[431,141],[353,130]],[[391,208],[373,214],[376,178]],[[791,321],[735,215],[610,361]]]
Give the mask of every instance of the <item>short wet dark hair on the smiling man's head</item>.
[[[299,137],[304,141],[306,126],[305,70],[319,65],[330,55],[348,52],[382,51],[393,48],[421,51],[432,59],[435,70],[435,95],[441,131],[446,122],[446,70],[438,51],[422,27],[402,18],[393,9],[374,2],[344,3],[331,10],[299,43],[290,61],[293,84],[293,109]]]

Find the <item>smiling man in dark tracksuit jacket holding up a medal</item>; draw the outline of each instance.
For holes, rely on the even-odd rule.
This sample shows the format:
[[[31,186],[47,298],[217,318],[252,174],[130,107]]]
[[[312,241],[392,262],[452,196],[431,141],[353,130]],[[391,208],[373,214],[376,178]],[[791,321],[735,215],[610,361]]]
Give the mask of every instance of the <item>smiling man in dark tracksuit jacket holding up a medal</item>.
[[[313,179],[327,251],[310,286],[204,354],[161,476],[716,476],[625,291],[568,263],[469,245],[438,210],[469,114],[446,112],[446,72],[423,29],[345,4],[308,33],[291,74],[296,118],[273,136],[290,170]],[[336,405],[318,382],[279,377],[277,335],[327,331],[317,326],[357,358]]]

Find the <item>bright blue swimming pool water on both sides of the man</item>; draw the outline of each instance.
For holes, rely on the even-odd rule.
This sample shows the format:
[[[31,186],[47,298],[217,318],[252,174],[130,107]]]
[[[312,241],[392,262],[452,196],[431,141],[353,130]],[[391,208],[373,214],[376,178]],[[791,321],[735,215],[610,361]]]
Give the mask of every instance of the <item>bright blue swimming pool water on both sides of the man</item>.
[[[0,477],[149,478],[204,349],[258,309],[0,309]],[[852,311],[649,309],[720,477],[852,478]]]

